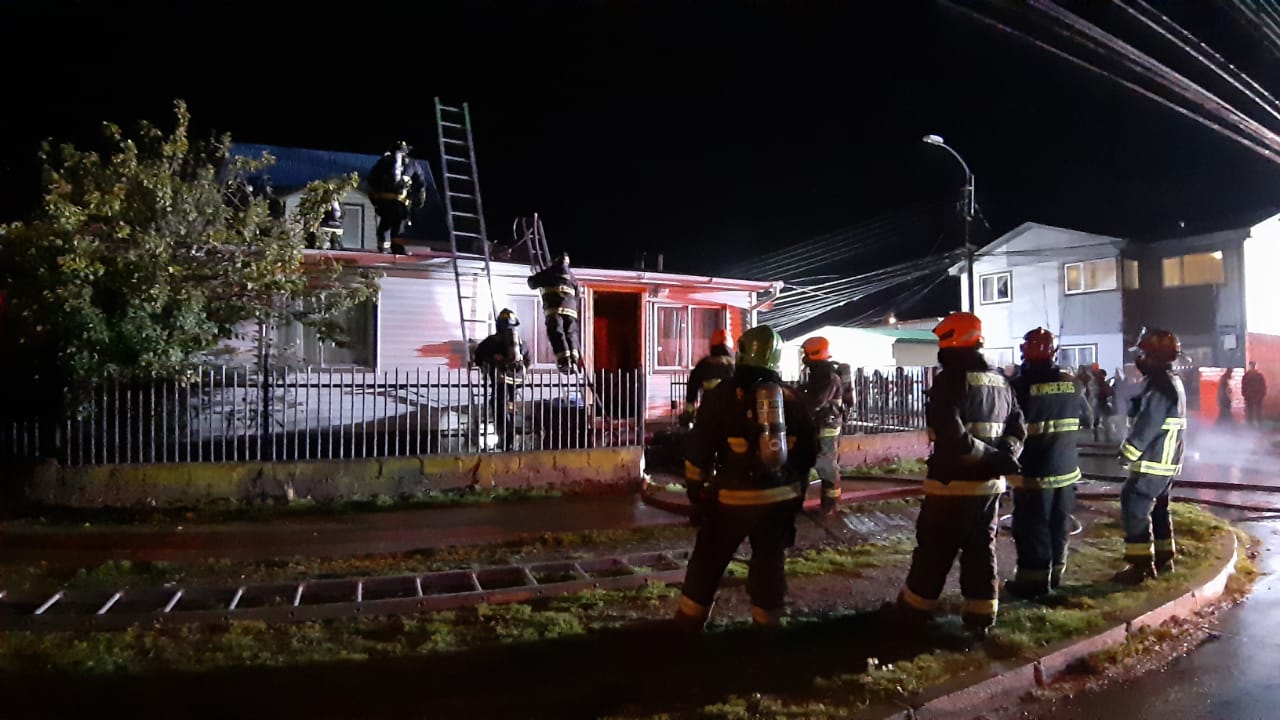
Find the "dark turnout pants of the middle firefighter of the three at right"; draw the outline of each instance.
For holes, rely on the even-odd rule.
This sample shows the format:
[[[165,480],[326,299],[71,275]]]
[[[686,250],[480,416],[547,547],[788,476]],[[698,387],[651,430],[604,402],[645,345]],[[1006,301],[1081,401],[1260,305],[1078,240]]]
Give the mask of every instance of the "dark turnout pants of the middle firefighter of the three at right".
[[[1014,489],[1014,544],[1019,584],[1057,587],[1066,569],[1066,543],[1075,486]]]

